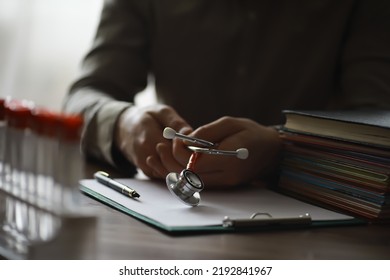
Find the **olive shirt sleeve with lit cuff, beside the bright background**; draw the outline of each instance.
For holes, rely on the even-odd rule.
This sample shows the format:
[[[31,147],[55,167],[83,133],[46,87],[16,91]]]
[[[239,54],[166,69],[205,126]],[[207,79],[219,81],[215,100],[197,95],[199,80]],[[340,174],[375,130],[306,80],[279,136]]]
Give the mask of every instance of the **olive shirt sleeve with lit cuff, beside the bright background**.
[[[84,116],[84,154],[116,166],[124,159],[113,145],[115,123],[147,85],[147,2],[104,2],[92,48],[64,101],[65,112]]]

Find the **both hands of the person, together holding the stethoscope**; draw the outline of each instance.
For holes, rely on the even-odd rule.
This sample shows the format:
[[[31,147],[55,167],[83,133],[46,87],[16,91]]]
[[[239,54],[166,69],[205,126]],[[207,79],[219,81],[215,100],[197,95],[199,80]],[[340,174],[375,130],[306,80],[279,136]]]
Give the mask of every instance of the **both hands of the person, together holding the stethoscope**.
[[[147,176],[164,178],[180,173],[191,151],[181,139],[163,137],[165,127],[180,133],[218,143],[218,149],[247,148],[249,157],[201,156],[194,171],[210,186],[232,186],[255,178],[275,162],[279,149],[278,134],[254,121],[223,117],[195,131],[168,106],[128,110],[118,121],[116,144],[125,156]],[[188,143],[187,143],[188,144]]]

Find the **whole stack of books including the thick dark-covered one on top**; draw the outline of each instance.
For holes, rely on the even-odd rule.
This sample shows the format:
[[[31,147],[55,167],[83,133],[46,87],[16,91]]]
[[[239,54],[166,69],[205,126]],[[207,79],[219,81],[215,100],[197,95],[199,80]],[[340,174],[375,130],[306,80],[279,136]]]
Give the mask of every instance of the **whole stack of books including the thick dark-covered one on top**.
[[[390,111],[283,111],[278,189],[369,221],[390,219]]]

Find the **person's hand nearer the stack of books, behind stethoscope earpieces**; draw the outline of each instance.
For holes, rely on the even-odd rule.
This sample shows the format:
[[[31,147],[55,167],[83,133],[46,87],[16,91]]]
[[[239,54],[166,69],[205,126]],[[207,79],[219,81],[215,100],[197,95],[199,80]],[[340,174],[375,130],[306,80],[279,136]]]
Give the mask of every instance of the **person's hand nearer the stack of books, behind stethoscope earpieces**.
[[[218,143],[217,149],[247,148],[249,151],[247,159],[201,154],[194,171],[206,185],[228,187],[246,183],[272,172],[279,161],[279,133],[249,119],[223,117],[199,127],[190,136]],[[188,154],[182,149],[181,145],[174,145],[173,154],[176,162],[185,165]]]

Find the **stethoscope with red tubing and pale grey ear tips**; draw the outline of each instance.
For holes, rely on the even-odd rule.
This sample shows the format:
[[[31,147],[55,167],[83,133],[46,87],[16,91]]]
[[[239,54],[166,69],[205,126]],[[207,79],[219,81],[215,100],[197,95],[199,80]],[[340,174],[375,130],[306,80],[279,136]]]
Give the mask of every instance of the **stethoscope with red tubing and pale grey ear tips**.
[[[199,204],[199,193],[204,189],[204,183],[202,179],[193,171],[196,160],[200,153],[210,155],[236,156],[239,159],[246,159],[249,155],[248,150],[245,148],[240,148],[236,151],[217,150],[212,148],[216,146],[216,144],[212,142],[177,133],[170,127],[166,127],[164,129],[163,136],[166,139],[173,139],[177,137],[182,140],[203,146],[187,146],[188,149],[192,151],[192,154],[188,160],[186,168],[183,169],[180,174],[176,172],[169,173],[165,180],[167,187],[172,195],[189,206],[197,206]]]

